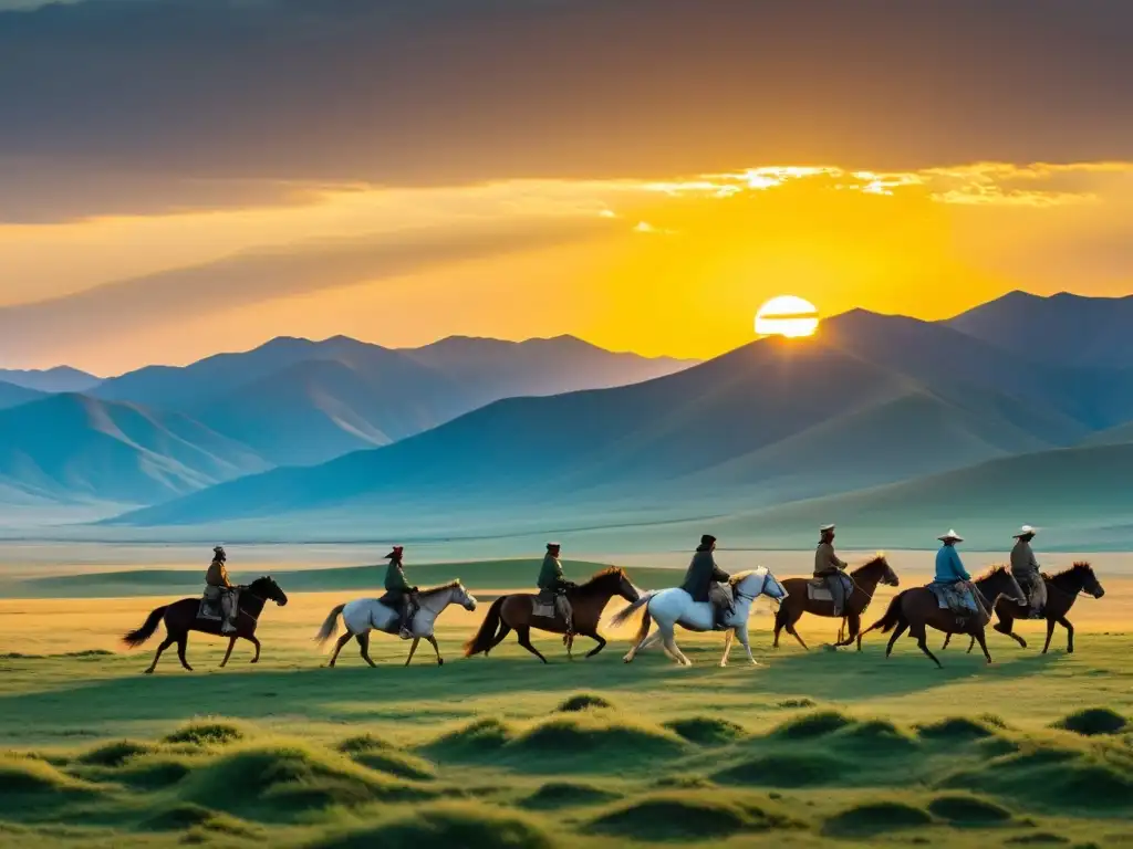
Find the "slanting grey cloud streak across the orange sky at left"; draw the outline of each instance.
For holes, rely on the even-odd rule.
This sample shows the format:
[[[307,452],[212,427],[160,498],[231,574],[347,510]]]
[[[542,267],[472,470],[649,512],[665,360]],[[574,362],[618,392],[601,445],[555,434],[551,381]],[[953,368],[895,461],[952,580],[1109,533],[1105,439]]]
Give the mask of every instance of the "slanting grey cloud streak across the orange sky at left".
[[[199,266],[111,283],[37,303],[0,308],[0,352],[20,362],[50,358],[66,343],[92,349],[142,328],[437,265],[500,256],[624,232],[605,218],[466,224],[249,250]]]

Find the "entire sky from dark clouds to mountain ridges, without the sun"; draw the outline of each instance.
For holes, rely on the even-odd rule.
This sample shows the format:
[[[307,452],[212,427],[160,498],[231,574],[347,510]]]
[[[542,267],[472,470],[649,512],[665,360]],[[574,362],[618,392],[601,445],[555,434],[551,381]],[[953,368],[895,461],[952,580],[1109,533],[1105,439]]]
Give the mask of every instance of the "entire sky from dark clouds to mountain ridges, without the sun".
[[[1133,292],[1123,0],[0,0],[0,367]]]

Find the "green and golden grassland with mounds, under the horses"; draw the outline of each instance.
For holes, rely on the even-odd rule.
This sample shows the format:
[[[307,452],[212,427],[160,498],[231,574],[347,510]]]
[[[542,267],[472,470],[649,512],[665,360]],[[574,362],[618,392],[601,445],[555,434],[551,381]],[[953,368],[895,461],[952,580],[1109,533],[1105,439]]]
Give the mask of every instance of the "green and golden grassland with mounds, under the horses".
[[[374,670],[352,649],[326,669],[310,642],[356,573],[334,592],[287,577],[262,662],[240,646],[220,670],[222,643],[197,636],[195,674],[165,658],[142,676],[154,644],[116,643],[167,598],[0,601],[0,847],[1130,844],[1124,583],[1080,602],[1076,654],[994,635],[991,667],[951,649],[936,670],[911,643],[888,661],[880,642],[773,652],[766,612],[759,669],[718,668],[714,635],[680,637],[691,669],[625,666],[620,632],[585,661],[550,637],[547,667],[513,643],[465,660],[482,609],[441,620],[445,666],[426,649],[404,668],[407,645],[377,637]]]

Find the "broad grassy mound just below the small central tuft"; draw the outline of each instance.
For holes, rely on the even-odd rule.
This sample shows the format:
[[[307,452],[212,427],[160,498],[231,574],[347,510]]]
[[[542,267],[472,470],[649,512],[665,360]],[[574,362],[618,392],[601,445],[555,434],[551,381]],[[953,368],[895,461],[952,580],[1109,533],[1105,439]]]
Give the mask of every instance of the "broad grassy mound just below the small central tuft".
[[[602,755],[622,763],[680,754],[684,741],[659,727],[634,724],[591,715],[553,717],[508,744],[509,754],[577,758]]]

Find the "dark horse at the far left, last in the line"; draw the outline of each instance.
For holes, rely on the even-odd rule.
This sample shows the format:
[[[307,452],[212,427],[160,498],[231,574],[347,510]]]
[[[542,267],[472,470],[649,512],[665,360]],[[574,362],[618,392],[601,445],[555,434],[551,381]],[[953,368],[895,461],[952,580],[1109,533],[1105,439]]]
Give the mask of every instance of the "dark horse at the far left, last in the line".
[[[232,657],[232,646],[236,645],[237,640],[241,638],[247,640],[256,646],[256,657],[252,659],[252,662],[257,663],[259,662],[259,641],[256,640],[256,625],[259,621],[259,615],[263,612],[264,604],[269,600],[274,601],[280,607],[284,607],[287,604],[287,593],[280,589],[280,585],[275,583],[271,575],[257,577],[247,586],[240,586],[239,590],[240,595],[237,600],[235,634],[222,633],[221,620],[202,619],[198,617],[197,611],[201,609],[201,599],[196,598],[181,599],[180,601],[174,601],[172,604],[154,609],[140,628],[122,636],[122,642],[131,649],[142,645],[157,631],[157,624],[164,620],[165,640],[157,646],[157,653],[153,655],[153,662],[145,670],[146,675],[153,674],[161,653],[173,643],[177,643],[177,657],[181,661],[181,666],[191,672],[193,667],[185,659],[185,649],[189,642],[190,631],[199,631],[202,634],[213,634],[229,638],[228,651],[224,652],[224,660],[220,663],[221,668],[228,664],[228,659]]]

